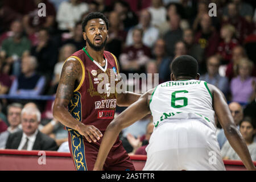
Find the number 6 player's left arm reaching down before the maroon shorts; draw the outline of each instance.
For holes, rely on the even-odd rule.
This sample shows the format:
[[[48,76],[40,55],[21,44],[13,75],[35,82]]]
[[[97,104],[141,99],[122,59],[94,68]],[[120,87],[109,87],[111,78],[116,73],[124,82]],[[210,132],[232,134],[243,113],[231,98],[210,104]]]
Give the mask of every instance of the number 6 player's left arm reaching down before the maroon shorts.
[[[150,113],[148,96],[151,95],[152,91],[153,89],[144,93],[136,102],[127,107],[126,110],[119,114],[118,117],[109,124],[104,137],[102,138],[100,150],[98,151],[97,160],[93,170],[102,170],[109,151],[121,130]]]

